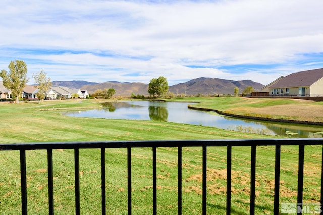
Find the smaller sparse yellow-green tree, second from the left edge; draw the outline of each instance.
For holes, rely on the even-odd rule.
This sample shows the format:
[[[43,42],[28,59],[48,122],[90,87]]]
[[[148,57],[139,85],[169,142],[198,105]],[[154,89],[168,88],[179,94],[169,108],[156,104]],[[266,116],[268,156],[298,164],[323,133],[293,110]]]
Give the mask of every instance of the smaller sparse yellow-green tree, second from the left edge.
[[[32,76],[37,85],[35,86],[35,88],[38,89],[36,96],[38,98],[38,104],[40,104],[40,100],[46,98],[46,92],[50,89],[52,83],[50,82],[50,78],[47,79],[47,74],[44,70],[41,70],[39,73],[33,74]]]

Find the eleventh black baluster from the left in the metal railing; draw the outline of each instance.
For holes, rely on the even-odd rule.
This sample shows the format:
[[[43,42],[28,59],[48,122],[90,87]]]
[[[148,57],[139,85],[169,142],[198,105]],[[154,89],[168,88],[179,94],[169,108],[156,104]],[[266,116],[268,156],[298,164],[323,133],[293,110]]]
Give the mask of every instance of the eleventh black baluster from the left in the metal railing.
[[[279,180],[280,180],[281,146],[275,148],[275,188],[274,188],[274,214],[279,214]]]

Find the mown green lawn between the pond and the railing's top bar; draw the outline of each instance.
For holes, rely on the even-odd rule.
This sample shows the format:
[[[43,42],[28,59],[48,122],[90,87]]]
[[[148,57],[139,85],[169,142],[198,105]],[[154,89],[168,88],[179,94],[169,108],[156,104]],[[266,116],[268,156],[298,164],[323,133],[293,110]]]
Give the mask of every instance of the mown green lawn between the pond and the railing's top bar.
[[[97,104],[98,103],[98,104]],[[62,100],[0,105],[0,142],[114,141],[156,139],[268,138],[214,127],[162,121],[62,116],[64,108],[100,108],[97,100]],[[49,109],[47,111],[41,111]]]

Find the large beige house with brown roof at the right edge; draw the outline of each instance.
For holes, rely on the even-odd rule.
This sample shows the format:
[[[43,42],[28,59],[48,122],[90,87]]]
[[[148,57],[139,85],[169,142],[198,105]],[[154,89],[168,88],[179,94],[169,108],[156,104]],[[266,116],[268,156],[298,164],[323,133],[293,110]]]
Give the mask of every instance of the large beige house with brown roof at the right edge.
[[[292,73],[266,87],[271,96],[323,96],[323,68]]]

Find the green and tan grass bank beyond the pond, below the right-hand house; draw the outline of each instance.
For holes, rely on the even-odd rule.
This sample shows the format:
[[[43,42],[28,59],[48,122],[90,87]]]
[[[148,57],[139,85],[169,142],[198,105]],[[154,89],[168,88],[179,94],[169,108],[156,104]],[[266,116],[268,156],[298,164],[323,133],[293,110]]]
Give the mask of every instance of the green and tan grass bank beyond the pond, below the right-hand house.
[[[269,119],[323,122],[323,102],[286,98],[208,97],[184,98],[168,101],[198,102],[197,108],[224,113]]]

